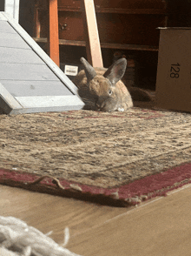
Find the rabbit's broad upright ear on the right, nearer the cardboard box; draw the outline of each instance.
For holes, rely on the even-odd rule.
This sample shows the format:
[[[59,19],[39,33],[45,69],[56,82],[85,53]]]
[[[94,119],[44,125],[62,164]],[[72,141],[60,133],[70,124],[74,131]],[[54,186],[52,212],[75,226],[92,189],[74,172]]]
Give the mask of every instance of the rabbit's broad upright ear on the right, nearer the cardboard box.
[[[126,67],[127,60],[126,58],[122,57],[109,67],[108,71],[105,72],[103,77],[108,78],[111,84],[115,85],[124,76]]]

